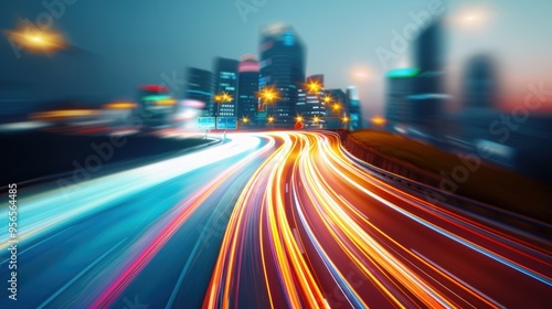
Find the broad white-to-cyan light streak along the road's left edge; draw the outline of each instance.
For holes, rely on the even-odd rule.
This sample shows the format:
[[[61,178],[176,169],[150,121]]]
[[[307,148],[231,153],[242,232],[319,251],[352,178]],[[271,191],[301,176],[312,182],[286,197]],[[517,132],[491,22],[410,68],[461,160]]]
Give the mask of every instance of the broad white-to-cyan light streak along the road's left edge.
[[[152,185],[192,170],[225,160],[258,146],[258,138],[236,136],[220,148],[206,149],[160,161],[145,167],[109,174],[91,181],[75,182],[71,185],[25,194],[20,199],[24,207],[20,210],[20,241],[31,241],[60,225],[100,212],[115,204],[119,199],[144,191]],[[63,196],[61,199],[61,196]],[[60,201],[63,201],[61,203]],[[8,217],[8,207],[0,207],[0,217]],[[0,238],[0,248],[8,246],[8,235]]]

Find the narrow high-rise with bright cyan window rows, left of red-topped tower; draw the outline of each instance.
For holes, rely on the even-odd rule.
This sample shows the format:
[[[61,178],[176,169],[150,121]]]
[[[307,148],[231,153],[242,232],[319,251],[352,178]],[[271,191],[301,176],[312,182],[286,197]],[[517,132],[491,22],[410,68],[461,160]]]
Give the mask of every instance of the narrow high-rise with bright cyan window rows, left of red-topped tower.
[[[237,113],[237,60],[217,57],[215,60],[214,95],[227,94],[229,100],[216,102],[217,117],[236,117]]]

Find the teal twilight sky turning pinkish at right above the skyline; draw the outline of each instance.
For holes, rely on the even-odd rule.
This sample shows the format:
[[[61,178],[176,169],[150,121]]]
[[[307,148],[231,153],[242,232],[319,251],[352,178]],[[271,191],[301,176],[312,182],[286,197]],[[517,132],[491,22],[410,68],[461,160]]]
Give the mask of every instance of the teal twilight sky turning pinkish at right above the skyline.
[[[357,85],[365,115],[382,113],[384,73],[412,65],[410,47],[393,49],[413,14],[448,7],[447,81],[455,98],[465,61],[490,53],[499,64],[502,108],[521,104],[527,85],[552,88],[550,0],[62,0],[1,1],[0,29],[34,24],[53,15],[52,29],[74,45],[70,52],[36,55],[0,38],[0,98],[106,96],[135,98],[138,84],[169,82],[181,97],[184,68],[212,70],[216,56],[257,54],[259,30],[291,24],[307,45],[307,74],[325,74],[327,88]],[[436,2],[436,7],[433,7]],[[253,11],[240,12],[251,6]],[[49,13],[50,12],[50,13]],[[396,45],[396,44],[395,44]],[[394,52],[382,62],[378,50]],[[450,105],[457,103],[453,99]],[[549,100],[550,102],[550,100]],[[543,107],[544,109],[549,107]]]

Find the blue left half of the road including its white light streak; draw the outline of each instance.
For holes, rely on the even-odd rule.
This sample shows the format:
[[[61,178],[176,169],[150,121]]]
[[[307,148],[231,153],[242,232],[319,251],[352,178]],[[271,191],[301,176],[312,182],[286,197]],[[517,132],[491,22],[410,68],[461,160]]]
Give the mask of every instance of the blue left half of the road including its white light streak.
[[[233,196],[220,192],[240,192],[241,183],[273,148],[274,141],[267,139],[235,136],[222,146],[77,183],[64,192],[55,184],[20,190],[19,299],[14,302],[2,297],[0,308],[93,306],[113,278],[120,276],[118,270],[127,262],[141,257],[140,253],[152,243],[169,239],[162,245],[176,255],[170,260],[174,265],[153,265],[177,276],[167,276],[168,283],[150,277],[142,281],[140,290],[129,287],[120,297],[109,299],[109,305],[123,308],[140,297],[139,301],[167,303],[177,286],[176,267],[198,256],[202,257],[198,269],[208,271],[194,279],[206,286],[212,268],[209,263],[214,263],[227,221],[224,215],[212,216],[222,211],[230,213],[233,205]],[[6,207],[2,205],[1,226],[8,226]],[[174,230],[167,231],[167,226]],[[171,237],[174,232],[180,234]],[[6,234],[2,236],[3,279],[8,278],[8,256]],[[211,249],[208,256],[213,262],[199,253],[190,254],[199,243]],[[161,287],[164,294],[142,292],[151,287]]]

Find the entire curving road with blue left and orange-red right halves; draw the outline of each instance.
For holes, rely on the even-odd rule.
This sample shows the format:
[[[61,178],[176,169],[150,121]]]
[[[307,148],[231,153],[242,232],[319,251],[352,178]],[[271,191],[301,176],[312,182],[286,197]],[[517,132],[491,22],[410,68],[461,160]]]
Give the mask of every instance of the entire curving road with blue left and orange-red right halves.
[[[0,308],[552,303],[549,239],[385,182],[332,134],[230,139],[63,192],[20,190],[18,300],[2,292]]]

